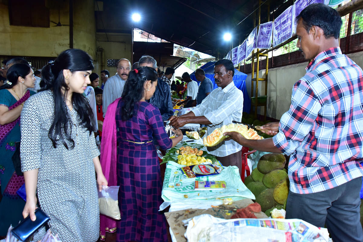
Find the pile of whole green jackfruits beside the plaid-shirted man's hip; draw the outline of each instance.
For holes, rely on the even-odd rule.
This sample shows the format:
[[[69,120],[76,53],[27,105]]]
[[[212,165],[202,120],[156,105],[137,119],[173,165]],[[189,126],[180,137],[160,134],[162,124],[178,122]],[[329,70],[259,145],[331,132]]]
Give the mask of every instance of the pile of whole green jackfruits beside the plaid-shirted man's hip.
[[[270,216],[274,208],[285,208],[289,194],[289,178],[285,169],[286,158],[282,154],[265,154],[258,161],[245,185],[256,197],[262,212]]]

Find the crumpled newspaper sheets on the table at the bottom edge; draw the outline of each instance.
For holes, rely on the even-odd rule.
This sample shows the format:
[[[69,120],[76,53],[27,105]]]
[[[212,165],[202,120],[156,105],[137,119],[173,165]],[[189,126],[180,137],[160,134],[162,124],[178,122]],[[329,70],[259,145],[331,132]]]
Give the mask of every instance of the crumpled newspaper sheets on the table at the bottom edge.
[[[205,221],[208,221],[207,223]],[[328,242],[329,233],[299,219],[237,218],[226,220],[210,214],[193,217],[184,236],[188,242]]]

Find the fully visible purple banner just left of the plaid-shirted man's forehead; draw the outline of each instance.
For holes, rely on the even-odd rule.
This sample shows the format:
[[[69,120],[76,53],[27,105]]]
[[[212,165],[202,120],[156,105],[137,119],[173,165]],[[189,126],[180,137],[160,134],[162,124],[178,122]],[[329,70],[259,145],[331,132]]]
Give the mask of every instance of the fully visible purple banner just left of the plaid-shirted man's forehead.
[[[273,22],[273,47],[291,38],[293,35],[293,6],[287,8]]]

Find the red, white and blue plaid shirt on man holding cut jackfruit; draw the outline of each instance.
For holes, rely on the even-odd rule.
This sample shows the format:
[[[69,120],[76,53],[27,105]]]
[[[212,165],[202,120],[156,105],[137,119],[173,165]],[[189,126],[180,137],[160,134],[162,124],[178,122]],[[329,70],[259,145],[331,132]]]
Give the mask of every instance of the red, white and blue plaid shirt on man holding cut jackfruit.
[[[362,69],[339,47],[318,54],[294,84],[274,145],[289,161],[290,191],[325,191],[362,176]]]

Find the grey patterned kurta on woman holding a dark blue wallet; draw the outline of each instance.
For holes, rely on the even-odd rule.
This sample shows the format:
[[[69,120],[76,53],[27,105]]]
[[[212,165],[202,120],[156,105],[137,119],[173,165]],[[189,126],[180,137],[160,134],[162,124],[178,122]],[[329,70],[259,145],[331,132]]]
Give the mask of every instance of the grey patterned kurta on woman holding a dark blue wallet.
[[[53,92],[31,96],[21,112],[21,169],[39,168],[38,199],[50,217],[53,234],[63,242],[97,241],[99,209],[93,158],[99,155],[94,134],[79,125],[76,110],[72,120],[74,149],[61,143],[54,149],[48,131],[54,117]]]

